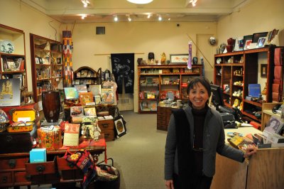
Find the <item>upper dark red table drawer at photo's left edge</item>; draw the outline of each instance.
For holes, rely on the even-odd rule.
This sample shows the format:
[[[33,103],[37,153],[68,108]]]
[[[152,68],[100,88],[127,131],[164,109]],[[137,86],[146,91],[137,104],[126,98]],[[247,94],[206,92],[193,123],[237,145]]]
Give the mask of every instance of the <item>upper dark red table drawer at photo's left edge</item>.
[[[11,159],[1,159],[0,160],[0,171],[25,168],[25,163],[28,163],[28,158],[11,158]]]

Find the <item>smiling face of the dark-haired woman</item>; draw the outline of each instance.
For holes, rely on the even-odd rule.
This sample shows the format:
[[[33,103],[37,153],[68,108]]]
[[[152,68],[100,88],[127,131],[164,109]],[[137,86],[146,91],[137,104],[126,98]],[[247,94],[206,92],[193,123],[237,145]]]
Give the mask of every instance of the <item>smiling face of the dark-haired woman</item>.
[[[200,82],[197,82],[197,84],[190,90],[189,97],[194,109],[204,108],[207,100],[209,99],[206,88]]]

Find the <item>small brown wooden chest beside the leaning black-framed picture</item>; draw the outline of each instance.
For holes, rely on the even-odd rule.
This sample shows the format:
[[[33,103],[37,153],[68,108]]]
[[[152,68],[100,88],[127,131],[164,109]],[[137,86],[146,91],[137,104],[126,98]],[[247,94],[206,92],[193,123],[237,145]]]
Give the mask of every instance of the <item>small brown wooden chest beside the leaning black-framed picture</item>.
[[[114,120],[99,120],[99,129],[101,129],[102,134],[104,134],[104,139],[106,141],[114,141]]]

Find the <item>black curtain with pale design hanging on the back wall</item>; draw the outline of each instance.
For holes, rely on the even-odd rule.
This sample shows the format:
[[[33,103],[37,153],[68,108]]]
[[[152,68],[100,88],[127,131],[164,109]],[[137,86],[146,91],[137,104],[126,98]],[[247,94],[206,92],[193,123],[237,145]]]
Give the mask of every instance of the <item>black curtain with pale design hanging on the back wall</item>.
[[[125,93],[133,93],[134,53],[111,54],[111,68],[119,94],[122,94],[122,85]]]

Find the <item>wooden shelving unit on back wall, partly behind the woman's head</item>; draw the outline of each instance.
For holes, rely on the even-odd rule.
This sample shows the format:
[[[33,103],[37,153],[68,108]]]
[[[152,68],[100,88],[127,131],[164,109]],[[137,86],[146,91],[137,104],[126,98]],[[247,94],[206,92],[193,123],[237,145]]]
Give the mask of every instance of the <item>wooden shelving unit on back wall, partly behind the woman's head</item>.
[[[163,99],[188,99],[187,83],[202,75],[202,65],[138,65],[138,113],[156,113]]]

